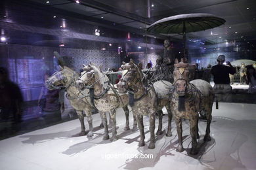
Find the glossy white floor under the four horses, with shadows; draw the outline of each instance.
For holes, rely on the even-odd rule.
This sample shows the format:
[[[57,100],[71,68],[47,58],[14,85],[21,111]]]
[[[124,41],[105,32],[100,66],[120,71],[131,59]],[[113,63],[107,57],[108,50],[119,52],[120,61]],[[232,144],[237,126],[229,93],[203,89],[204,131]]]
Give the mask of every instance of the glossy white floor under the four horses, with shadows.
[[[71,120],[0,141],[0,169],[256,169],[256,105],[219,103],[219,110],[215,105],[213,108],[212,140],[203,143],[206,123],[200,121],[197,156],[188,155],[191,137],[187,121],[183,122],[184,152],[175,150],[175,122],[173,136],[164,133],[158,137],[156,148],[149,150],[137,146],[139,131],[123,131],[125,116],[119,109],[116,142],[102,141],[103,129],[97,127],[100,118],[94,114],[95,134],[91,139],[76,135],[79,121]],[[144,122],[148,141],[148,118]],[[167,116],[163,116],[163,129],[167,129]],[[139,154],[152,154],[153,158],[133,157]]]

